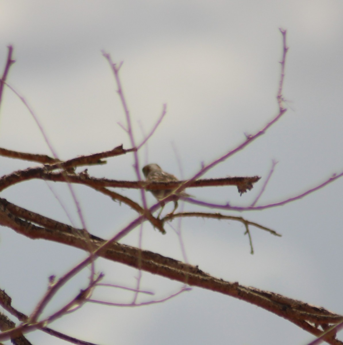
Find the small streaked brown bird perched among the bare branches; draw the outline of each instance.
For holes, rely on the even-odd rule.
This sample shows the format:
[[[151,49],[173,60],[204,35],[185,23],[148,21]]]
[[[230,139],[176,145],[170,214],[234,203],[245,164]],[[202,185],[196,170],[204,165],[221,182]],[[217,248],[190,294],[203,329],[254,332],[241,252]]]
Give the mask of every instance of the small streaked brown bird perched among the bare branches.
[[[178,178],[176,178],[174,175],[169,174],[168,172],[165,172],[161,169],[161,167],[157,164],[148,164],[146,165],[143,169],[143,174],[145,176],[145,180],[149,181],[149,182],[172,182],[172,181],[179,181]],[[175,190],[175,189],[174,189]],[[157,199],[157,200],[162,200],[165,197],[169,196],[170,194],[172,194],[173,189],[155,189],[155,190],[150,190],[152,195]],[[175,195],[175,199],[174,204],[175,207],[172,211],[172,214],[175,212],[176,208],[178,208],[178,196],[181,197],[190,197],[191,195],[185,193],[184,191],[178,193],[177,195]],[[163,210],[164,207],[164,202],[162,201],[161,203],[161,211],[158,215],[158,218],[160,217],[160,214]]]

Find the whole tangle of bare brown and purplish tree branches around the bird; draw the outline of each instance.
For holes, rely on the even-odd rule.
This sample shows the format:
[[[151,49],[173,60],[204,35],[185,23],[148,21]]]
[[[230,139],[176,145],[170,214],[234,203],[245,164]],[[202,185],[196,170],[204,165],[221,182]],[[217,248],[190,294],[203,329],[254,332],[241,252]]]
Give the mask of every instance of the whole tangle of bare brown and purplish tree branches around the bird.
[[[39,167],[31,167],[25,170],[19,170],[12,172],[9,175],[3,176],[0,178],[0,191],[6,189],[14,184],[19,182],[23,182],[30,179],[43,179],[45,181],[60,181],[65,182],[68,184],[70,188],[71,194],[74,199],[74,203],[77,206],[78,213],[82,222],[82,229],[61,223],[59,221],[53,220],[48,217],[44,217],[38,213],[31,212],[27,209],[21,208],[17,205],[9,203],[6,199],[0,199],[0,225],[13,229],[17,233],[26,236],[31,239],[46,239],[50,241],[54,241],[61,244],[66,244],[72,246],[74,248],[79,248],[81,250],[86,251],[89,253],[88,257],[82,260],[78,265],[75,265],[71,268],[67,273],[65,273],[59,279],[55,279],[54,276],[50,277],[49,286],[47,287],[47,291],[42,296],[34,311],[31,313],[30,316],[24,315],[16,308],[12,307],[11,305],[11,298],[10,296],[5,293],[3,290],[0,290],[0,305],[6,309],[8,313],[18,318],[21,322],[17,327],[14,322],[12,322],[8,317],[0,313],[0,329],[3,331],[0,334],[0,341],[6,340],[11,338],[13,344],[18,345],[29,345],[30,343],[27,339],[23,336],[26,332],[32,331],[34,329],[40,329],[43,332],[48,334],[57,336],[60,339],[64,339],[74,344],[83,344],[83,345],[94,345],[92,343],[84,342],[76,338],[69,337],[62,333],[56,332],[50,328],[47,328],[46,325],[53,320],[73,312],[74,310],[80,308],[84,303],[91,302],[91,303],[99,303],[99,304],[107,304],[112,306],[124,306],[122,303],[115,303],[115,302],[108,302],[102,300],[95,300],[91,298],[91,294],[95,288],[98,288],[100,285],[106,284],[99,284],[99,281],[102,279],[103,275],[95,274],[94,269],[94,261],[98,257],[102,257],[113,262],[122,263],[124,265],[128,265],[130,267],[134,267],[139,269],[139,278],[137,279],[137,288],[131,289],[134,290],[137,294],[133,298],[132,303],[126,304],[126,306],[138,306],[138,305],[145,305],[145,304],[152,304],[152,303],[161,303],[164,300],[172,298],[184,291],[188,291],[189,288],[187,286],[196,286],[201,287],[204,289],[212,290],[215,292],[219,292],[234,298],[241,299],[245,302],[249,302],[256,306],[259,306],[269,312],[274,313],[275,315],[281,316],[288,321],[294,323],[295,325],[299,326],[300,328],[304,329],[311,334],[320,337],[320,340],[324,340],[329,344],[343,344],[341,341],[336,339],[336,332],[342,327],[343,323],[343,316],[339,314],[332,313],[327,311],[323,307],[313,306],[307,303],[304,303],[299,300],[295,300],[292,298],[288,298],[273,292],[260,290],[254,287],[247,287],[240,285],[238,282],[227,282],[223,279],[216,278],[208,273],[203,272],[199,269],[198,266],[193,266],[190,264],[186,264],[180,262],[178,260],[174,260],[169,257],[165,257],[158,253],[152,253],[148,250],[143,250],[141,247],[136,248],[132,246],[127,246],[119,243],[125,235],[127,235],[130,231],[137,228],[138,226],[142,226],[145,221],[149,221],[153,227],[157,228],[161,233],[165,233],[164,223],[165,221],[171,221],[174,218],[182,218],[182,217],[205,217],[211,219],[230,219],[234,221],[241,222],[245,227],[245,233],[249,237],[251,253],[253,253],[253,245],[252,245],[252,237],[250,233],[250,227],[254,226],[260,228],[264,231],[268,231],[270,234],[275,236],[281,236],[276,231],[264,227],[260,224],[254,223],[249,221],[243,217],[234,217],[231,215],[223,215],[219,213],[201,213],[201,212],[186,212],[186,213],[177,213],[177,214],[169,214],[162,219],[155,218],[153,216],[153,212],[160,207],[160,203],[153,205],[152,207],[148,208],[147,201],[145,198],[145,191],[147,190],[165,190],[171,189],[173,190],[173,194],[169,195],[163,200],[163,202],[171,201],[175,198],[175,194],[179,194],[185,188],[191,187],[209,187],[209,186],[237,186],[238,191],[240,194],[245,193],[248,190],[253,188],[254,183],[256,183],[260,177],[253,176],[253,177],[226,177],[226,178],[218,178],[218,179],[200,179],[207,171],[211,168],[223,162],[224,160],[228,159],[232,155],[236,154],[237,152],[243,150],[248,145],[250,145],[254,140],[258,139],[260,136],[264,135],[265,132],[273,126],[279,119],[283,116],[286,112],[284,108],[284,98],[282,95],[283,92],[283,83],[284,83],[284,76],[285,76],[285,61],[286,61],[286,53],[288,51],[288,47],[286,45],[286,31],[280,29],[283,38],[283,54],[282,54],[282,61],[281,64],[281,74],[280,74],[280,81],[277,93],[277,101],[279,106],[278,114],[275,114],[274,117],[259,131],[256,131],[253,135],[246,135],[245,140],[241,142],[240,145],[227,151],[223,156],[220,158],[213,160],[210,164],[206,166],[202,166],[202,168],[195,174],[192,178],[185,180],[185,181],[173,181],[168,183],[155,183],[155,182],[147,182],[141,180],[141,171],[140,171],[140,164],[139,164],[139,157],[138,157],[138,149],[141,148],[145,142],[152,136],[155,132],[159,124],[161,123],[162,119],[166,114],[166,106],[163,106],[162,114],[160,115],[159,119],[153,126],[150,133],[145,136],[143,141],[140,145],[135,144],[135,136],[133,133],[132,128],[132,118],[130,115],[129,107],[127,100],[124,97],[124,91],[122,88],[122,83],[119,78],[119,71],[122,66],[122,63],[116,64],[113,63],[110,55],[108,53],[104,53],[104,57],[108,60],[111,69],[114,74],[115,83],[117,85],[117,92],[123,106],[125,118],[126,118],[126,125],[120,124],[120,126],[127,132],[130,142],[131,142],[131,149],[123,149],[123,146],[120,145],[115,147],[110,151],[98,152],[93,155],[87,156],[80,156],[75,157],[73,159],[69,159],[67,161],[61,161],[51,143],[48,140],[47,135],[43,131],[36,115],[29,107],[26,100],[19,95],[19,93],[14,90],[8,83],[6,82],[6,78],[8,75],[9,68],[11,64],[14,62],[12,60],[12,47],[9,46],[9,52],[7,57],[6,67],[4,69],[3,77],[0,80],[0,103],[1,97],[3,93],[4,85],[7,85],[16,95],[20,98],[20,100],[24,103],[24,105],[29,110],[30,114],[37,122],[44,139],[46,140],[52,155],[49,157],[47,155],[38,155],[38,154],[29,154],[25,152],[18,152],[18,151],[11,151],[4,148],[0,148],[0,155],[4,157],[16,158],[16,159],[23,159],[29,161],[35,161],[44,164],[44,166]],[[88,166],[88,165],[96,165],[96,164],[105,164],[104,158],[107,157],[114,157],[122,154],[126,154],[128,152],[132,152],[134,156],[134,169],[137,176],[137,181],[118,181],[118,180],[110,180],[110,179],[99,179],[94,178],[88,175],[87,169],[79,172],[78,174],[75,173],[75,168],[80,166]],[[285,205],[292,201],[298,200],[303,198],[314,191],[327,186],[329,183],[335,181],[336,179],[343,176],[343,172],[339,174],[334,174],[329,179],[326,179],[323,183],[317,185],[312,189],[307,189],[305,192],[301,194],[297,194],[292,198],[288,198],[286,200],[279,201],[278,203],[268,204],[264,206],[255,206],[258,200],[260,199],[261,195],[263,194],[266,185],[272,175],[275,162],[273,162],[272,169],[269,173],[269,176],[266,178],[265,183],[263,184],[260,193],[254,199],[253,203],[247,207],[237,207],[231,206],[229,203],[225,205],[219,204],[211,204],[207,203],[202,200],[195,200],[192,198],[185,198],[189,203],[193,203],[195,205],[204,206],[207,208],[217,208],[217,209],[225,209],[225,210],[235,210],[235,211],[246,211],[246,210],[262,210],[265,208],[271,208],[275,206]],[[57,171],[56,171],[57,170]],[[99,191],[100,193],[111,197],[113,200],[118,200],[121,203],[124,203],[131,207],[134,211],[138,213],[137,217],[130,221],[127,226],[123,227],[117,234],[112,235],[112,238],[109,240],[105,240],[99,238],[97,236],[92,235],[85,226],[85,222],[83,220],[82,210],[79,205],[79,201],[75,197],[73,193],[71,184],[82,184],[84,186],[88,186],[93,188],[94,190]],[[141,205],[134,202],[133,200],[116,193],[112,190],[109,190],[107,187],[116,187],[116,188],[133,188],[133,189],[140,189],[141,193]],[[141,237],[140,237],[141,240]],[[140,242],[141,246],[141,242]],[[91,265],[91,274],[89,278],[88,285],[81,290],[76,296],[73,296],[69,302],[65,305],[62,305],[57,312],[46,316],[45,319],[42,318],[42,313],[47,306],[47,304],[51,301],[53,296],[59,291],[59,289],[67,283],[73,276],[81,271],[84,267]],[[143,292],[139,289],[140,286],[140,277],[141,277],[141,270],[149,272],[151,274],[157,274],[162,277],[176,280],[183,284],[183,287],[180,289],[179,292],[170,295],[169,297],[160,299],[160,300],[152,300],[149,302],[137,303],[137,295],[138,293]],[[38,321],[39,320],[39,321]],[[319,341],[319,340],[318,340]],[[313,342],[313,344],[317,343],[318,341]]]

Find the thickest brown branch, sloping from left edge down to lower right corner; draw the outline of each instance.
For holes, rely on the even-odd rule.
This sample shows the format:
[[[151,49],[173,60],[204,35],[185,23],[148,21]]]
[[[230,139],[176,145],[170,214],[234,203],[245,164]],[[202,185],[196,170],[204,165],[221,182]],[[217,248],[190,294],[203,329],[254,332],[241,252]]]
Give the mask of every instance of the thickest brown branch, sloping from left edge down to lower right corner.
[[[86,240],[82,236],[75,234],[75,231],[67,233],[35,226],[12,215],[4,205],[0,205],[0,223],[30,238],[44,238],[83,250],[89,249],[89,240],[94,249],[105,242],[103,239],[93,235],[89,235],[89,239]],[[242,299],[245,302],[255,304],[284,317],[314,335],[319,335],[322,331],[312,324],[336,324],[343,319],[342,315],[331,313],[322,307],[312,306],[273,292],[242,286],[238,283],[225,282],[222,279],[202,272],[198,267],[184,264],[147,250],[112,243],[108,249],[100,253],[100,256],[132,267],[141,268],[153,274],[178,280],[191,286],[199,286]],[[340,344],[335,339],[326,339],[326,341],[330,344]]]

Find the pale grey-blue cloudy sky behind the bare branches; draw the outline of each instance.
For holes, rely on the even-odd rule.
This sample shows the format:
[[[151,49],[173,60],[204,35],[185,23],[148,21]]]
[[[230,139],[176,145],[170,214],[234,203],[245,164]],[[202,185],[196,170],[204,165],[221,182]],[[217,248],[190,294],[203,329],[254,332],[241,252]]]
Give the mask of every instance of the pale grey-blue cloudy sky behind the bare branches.
[[[124,61],[121,80],[135,137],[149,132],[167,103],[167,116],[140,151],[140,162],[189,178],[254,134],[278,112],[282,36],[290,47],[284,97],[288,111],[266,134],[204,177],[262,176],[241,197],[235,187],[189,190],[200,200],[248,206],[279,163],[259,205],[284,200],[343,170],[342,1],[6,1],[0,2],[0,63],[7,45],[16,63],[8,82],[34,110],[61,159],[130,147],[114,78],[101,50]],[[1,105],[0,147],[49,154],[27,109],[6,89]],[[176,152],[176,153],[175,153]],[[182,174],[177,164],[181,161]],[[136,179],[133,156],[108,159],[89,174]],[[34,166],[1,158],[1,175]],[[51,184],[77,225],[68,190]],[[75,186],[89,231],[110,238],[136,216],[126,205]],[[139,201],[138,191],[117,190]],[[271,290],[343,314],[343,179],[294,203],[241,215],[270,227],[274,237],[251,229],[250,254],[243,225],[233,221],[184,219],[190,264],[216,277]],[[8,188],[2,197],[68,222],[44,181]],[[148,202],[154,203],[148,194]],[[168,211],[168,205],[166,208]],[[185,205],[186,210],[199,210]],[[203,209],[201,209],[203,210]],[[177,222],[172,223],[176,227]],[[85,253],[0,229],[1,289],[14,307],[30,314],[51,274],[62,275]],[[138,245],[138,229],[122,243]],[[145,225],[143,248],[182,260],[178,237]],[[7,263],[6,265],[4,263]],[[136,270],[98,260],[105,282],[135,287]],[[47,308],[56,310],[87,284],[84,270]],[[182,285],[143,273],[142,288],[167,297]],[[130,303],[132,293],[98,289],[94,297]],[[142,296],[141,301],[151,300]],[[97,344],[305,344],[313,337],[284,319],[234,298],[193,288],[163,304],[137,308],[85,305],[51,324]],[[42,332],[34,344],[65,344]],[[340,338],[343,338],[341,332]],[[6,344],[9,344],[7,342]]]

